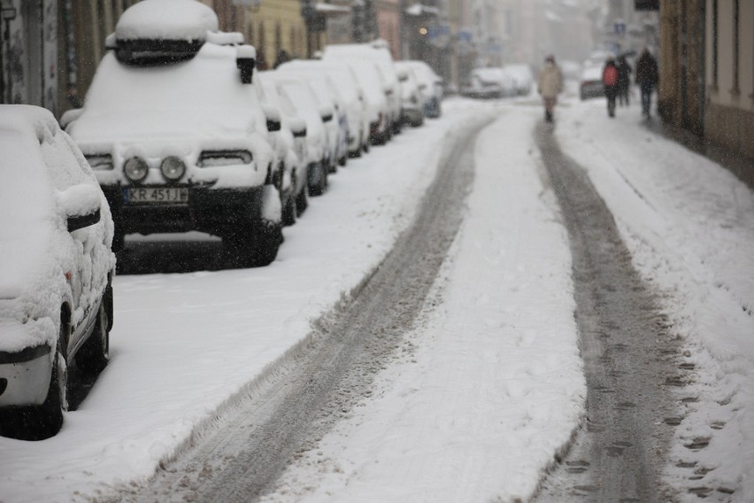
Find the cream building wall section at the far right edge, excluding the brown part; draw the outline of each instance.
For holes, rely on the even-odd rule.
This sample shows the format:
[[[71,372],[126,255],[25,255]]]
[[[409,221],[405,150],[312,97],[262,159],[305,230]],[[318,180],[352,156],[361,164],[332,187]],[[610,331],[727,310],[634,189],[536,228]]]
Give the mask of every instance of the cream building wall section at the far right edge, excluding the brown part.
[[[738,81],[735,81],[735,0],[717,0],[718,40],[714,50],[715,0],[706,0],[706,104],[704,135],[754,158],[754,2],[738,2]],[[715,74],[717,60],[717,74]],[[754,166],[752,166],[754,171]]]

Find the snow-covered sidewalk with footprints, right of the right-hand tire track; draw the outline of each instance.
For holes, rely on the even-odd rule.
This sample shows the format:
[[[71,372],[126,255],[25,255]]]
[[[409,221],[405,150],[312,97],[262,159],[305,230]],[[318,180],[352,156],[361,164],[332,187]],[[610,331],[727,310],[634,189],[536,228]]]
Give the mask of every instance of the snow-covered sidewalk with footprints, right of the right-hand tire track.
[[[614,120],[604,100],[559,113],[563,151],[587,168],[693,365],[679,371],[686,415],[666,479],[689,501],[694,488],[754,501],[754,193],[643,127],[638,106]]]

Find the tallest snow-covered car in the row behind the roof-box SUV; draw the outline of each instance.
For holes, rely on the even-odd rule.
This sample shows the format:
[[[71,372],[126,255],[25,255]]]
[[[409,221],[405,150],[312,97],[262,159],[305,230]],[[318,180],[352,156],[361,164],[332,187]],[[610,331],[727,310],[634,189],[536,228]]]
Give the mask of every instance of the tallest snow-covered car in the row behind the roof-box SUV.
[[[371,61],[381,74],[383,92],[389,105],[389,121],[392,132],[401,130],[401,83],[398,80],[396,66],[384,40],[371,43],[338,43],[327,45],[322,54],[327,62],[365,62]]]

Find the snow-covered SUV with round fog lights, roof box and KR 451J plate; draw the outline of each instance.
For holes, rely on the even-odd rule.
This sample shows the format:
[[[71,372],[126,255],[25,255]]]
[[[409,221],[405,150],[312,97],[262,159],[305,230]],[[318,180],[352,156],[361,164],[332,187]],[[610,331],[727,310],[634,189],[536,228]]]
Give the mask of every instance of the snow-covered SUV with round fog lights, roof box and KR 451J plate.
[[[279,162],[253,85],[256,50],[198,2],[144,0],[107,38],[84,107],[64,115],[127,233],[220,236],[235,264],[282,242]],[[277,114],[279,116],[279,113]]]

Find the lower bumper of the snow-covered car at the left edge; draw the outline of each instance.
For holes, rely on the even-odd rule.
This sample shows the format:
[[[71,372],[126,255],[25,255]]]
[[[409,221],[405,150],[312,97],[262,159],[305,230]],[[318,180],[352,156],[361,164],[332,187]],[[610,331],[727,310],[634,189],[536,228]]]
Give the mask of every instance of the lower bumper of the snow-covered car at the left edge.
[[[0,352],[0,407],[38,406],[50,390],[50,346]]]

